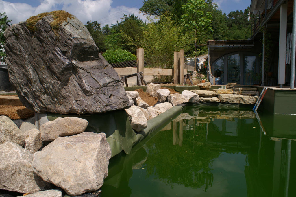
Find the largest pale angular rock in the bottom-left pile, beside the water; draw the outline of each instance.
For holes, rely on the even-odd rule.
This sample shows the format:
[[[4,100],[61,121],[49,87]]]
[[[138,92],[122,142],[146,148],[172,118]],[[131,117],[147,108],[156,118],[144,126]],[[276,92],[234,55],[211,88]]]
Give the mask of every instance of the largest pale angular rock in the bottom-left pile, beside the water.
[[[110,158],[105,133],[83,132],[59,137],[34,153],[33,167],[43,180],[75,196],[103,185]]]

